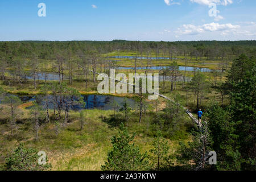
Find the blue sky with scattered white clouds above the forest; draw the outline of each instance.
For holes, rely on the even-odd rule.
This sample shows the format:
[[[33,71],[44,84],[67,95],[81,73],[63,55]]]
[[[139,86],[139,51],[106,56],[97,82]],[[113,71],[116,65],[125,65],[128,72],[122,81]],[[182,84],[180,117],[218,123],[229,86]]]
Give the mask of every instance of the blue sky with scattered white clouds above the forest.
[[[1,0],[0,17],[0,41],[256,38],[255,0]]]

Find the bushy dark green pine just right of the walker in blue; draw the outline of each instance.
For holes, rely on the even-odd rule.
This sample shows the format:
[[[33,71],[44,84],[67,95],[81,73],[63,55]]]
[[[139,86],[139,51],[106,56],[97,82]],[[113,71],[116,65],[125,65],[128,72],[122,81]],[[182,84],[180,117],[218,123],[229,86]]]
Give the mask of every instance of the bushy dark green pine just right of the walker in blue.
[[[211,131],[213,150],[218,155],[218,170],[240,170],[241,160],[240,144],[237,143],[238,135],[235,134],[236,123],[224,108],[213,104],[209,107],[205,117],[208,119]]]

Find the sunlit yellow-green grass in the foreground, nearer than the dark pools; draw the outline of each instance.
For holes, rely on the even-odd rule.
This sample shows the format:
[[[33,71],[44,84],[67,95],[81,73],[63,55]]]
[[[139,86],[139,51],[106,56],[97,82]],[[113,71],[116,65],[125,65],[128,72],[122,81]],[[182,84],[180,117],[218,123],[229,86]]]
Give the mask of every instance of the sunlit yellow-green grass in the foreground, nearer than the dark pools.
[[[39,141],[36,142],[34,125],[28,115],[29,111],[21,110],[22,115],[18,118],[18,129],[15,131],[14,137],[10,136],[10,127],[7,121],[0,124],[2,133],[0,136],[1,163],[4,162],[4,156],[21,142],[26,147],[35,147],[39,151],[46,151],[53,170],[100,170],[111,147],[110,138],[118,131],[118,127],[112,127],[102,119],[113,115],[112,110],[86,110],[86,125],[83,130],[80,130],[77,120],[79,113],[72,111],[70,113],[72,123],[64,128],[60,124],[59,135],[55,135],[53,123],[48,123],[41,126]],[[1,121],[4,121],[5,117],[6,115],[2,115]],[[148,151],[152,147],[153,137],[148,137],[144,120],[142,123],[136,121],[138,121],[138,115],[131,114],[131,119],[126,125],[129,126],[130,133],[137,133],[135,144],[141,148],[141,151]],[[177,144],[179,141],[168,141],[171,146],[170,154],[172,154],[179,147]]]

